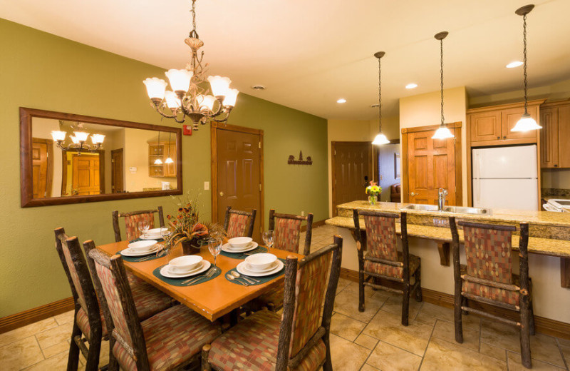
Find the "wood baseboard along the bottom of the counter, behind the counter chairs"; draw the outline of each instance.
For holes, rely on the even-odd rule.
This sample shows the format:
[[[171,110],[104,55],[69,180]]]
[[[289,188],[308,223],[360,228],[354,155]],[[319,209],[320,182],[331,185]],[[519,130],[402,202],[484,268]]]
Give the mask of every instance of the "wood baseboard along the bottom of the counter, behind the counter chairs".
[[[341,278],[358,282],[358,272],[356,272],[356,270],[341,268]],[[383,281],[382,284],[389,286],[390,281]],[[453,308],[455,303],[453,295],[441,293],[440,291],[422,288],[422,295],[425,303],[439,305],[440,307]],[[508,318],[510,320],[517,319],[517,314],[511,310],[506,310],[483,303],[475,303],[473,301],[470,301],[469,303],[469,306],[471,308],[484,310],[485,312]],[[539,317],[535,315],[534,325],[537,329],[537,332],[541,332],[545,335],[560,337],[561,339],[570,340],[570,323],[551,320],[550,318]]]

